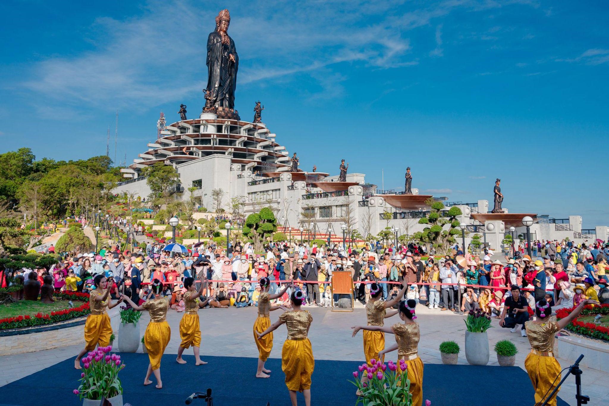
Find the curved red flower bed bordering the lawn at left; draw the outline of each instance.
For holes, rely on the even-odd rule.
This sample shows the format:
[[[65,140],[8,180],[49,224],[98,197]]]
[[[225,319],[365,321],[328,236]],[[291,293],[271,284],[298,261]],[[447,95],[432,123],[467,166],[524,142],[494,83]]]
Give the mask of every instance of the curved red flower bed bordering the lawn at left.
[[[25,315],[0,319],[0,330],[41,326],[43,324],[53,324],[57,323],[58,321],[66,321],[71,320],[72,318],[82,317],[88,315],[91,312],[91,310],[89,309],[88,293],[65,292],[57,293],[54,295],[54,297],[65,300],[86,301],[78,307],[72,307],[72,309],[57,310],[56,312],[45,314],[37,313],[33,317]]]

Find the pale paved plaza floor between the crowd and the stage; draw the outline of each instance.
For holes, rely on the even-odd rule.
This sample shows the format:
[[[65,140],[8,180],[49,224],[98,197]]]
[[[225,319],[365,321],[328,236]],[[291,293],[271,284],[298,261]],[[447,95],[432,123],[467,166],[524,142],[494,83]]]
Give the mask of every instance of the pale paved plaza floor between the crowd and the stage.
[[[331,312],[322,307],[305,307],[313,315],[313,324],[309,331],[315,359],[318,360],[346,360],[361,361],[364,359],[362,349],[361,332],[357,337],[351,337],[351,326],[365,324],[365,310],[360,304],[356,304],[354,312]],[[116,310],[115,308],[113,310]],[[271,313],[271,320],[275,321],[281,310]],[[176,354],[180,345],[179,323],[183,313],[170,310],[167,321],[171,326],[171,341],[167,346],[166,354]],[[231,356],[231,357],[258,357],[252,325],[256,318],[256,308],[244,309],[202,309],[199,312],[202,327],[202,359],[205,355]],[[459,364],[466,364],[465,360],[465,315],[456,315],[450,311],[429,310],[424,306],[417,307],[417,321],[421,327],[421,341],[419,344],[419,355],[424,363],[442,363],[438,346],[442,341],[454,340],[459,343],[461,353]],[[118,331],[118,317],[113,318],[113,329]],[[140,326],[144,333],[149,321],[147,312],[143,312]],[[400,322],[397,316],[386,319],[385,324]],[[496,341],[509,338],[518,348],[516,355],[516,366],[524,369],[524,359],[530,351],[529,341],[521,337],[518,332],[510,333],[509,329],[499,327],[498,321],[493,319],[493,328],[488,330],[490,340],[491,356],[489,365],[497,365],[497,359],[493,346]],[[275,340],[271,358],[281,357],[281,346],[286,338],[286,329],[281,326],[275,332]],[[393,337],[387,335],[385,343],[393,342]],[[115,343],[116,345],[116,343]],[[41,352],[28,352],[25,354],[7,355],[0,357],[0,386],[21,379],[24,376],[35,373],[55,363],[70,357],[75,357],[82,348],[82,343],[77,345],[56,348]],[[139,350],[141,351],[141,349]],[[186,350],[185,354],[191,355],[192,350]],[[397,358],[396,352],[387,354],[386,360]],[[561,366],[565,368],[569,363],[558,359]],[[252,373],[256,363],[252,360]],[[609,377],[607,374],[596,369],[582,368],[583,394],[590,396],[590,405],[609,404]],[[452,377],[454,378],[454,377]],[[469,379],[469,377],[463,377]],[[477,377],[477,380],[484,377]],[[464,384],[465,383],[464,381]],[[488,385],[496,383],[488,382]],[[569,377],[561,388],[560,396],[569,404],[574,402],[575,379]]]

